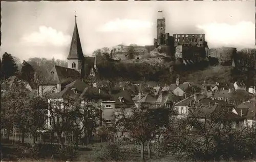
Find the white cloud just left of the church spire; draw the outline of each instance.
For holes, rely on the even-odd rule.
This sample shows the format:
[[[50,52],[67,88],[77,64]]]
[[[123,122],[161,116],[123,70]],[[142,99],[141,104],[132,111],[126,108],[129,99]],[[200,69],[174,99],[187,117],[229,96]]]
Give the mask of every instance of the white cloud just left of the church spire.
[[[36,46],[54,45],[61,47],[68,45],[71,41],[70,35],[65,35],[51,27],[40,26],[39,31],[24,35],[23,43],[29,43]]]

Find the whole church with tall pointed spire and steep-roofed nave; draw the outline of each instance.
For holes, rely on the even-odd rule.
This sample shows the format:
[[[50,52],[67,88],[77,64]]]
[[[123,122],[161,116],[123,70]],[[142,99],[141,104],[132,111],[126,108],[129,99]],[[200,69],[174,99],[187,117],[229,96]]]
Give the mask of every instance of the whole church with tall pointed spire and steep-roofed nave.
[[[77,16],[75,16],[75,27],[67,57],[68,67],[55,65],[52,68],[47,79],[38,83],[40,96],[46,93],[60,92],[71,82],[78,79],[83,80],[86,77],[85,68],[87,66],[82,51],[76,19]],[[94,57],[94,65],[91,67],[89,76],[92,78],[96,77],[97,71],[96,57]]]

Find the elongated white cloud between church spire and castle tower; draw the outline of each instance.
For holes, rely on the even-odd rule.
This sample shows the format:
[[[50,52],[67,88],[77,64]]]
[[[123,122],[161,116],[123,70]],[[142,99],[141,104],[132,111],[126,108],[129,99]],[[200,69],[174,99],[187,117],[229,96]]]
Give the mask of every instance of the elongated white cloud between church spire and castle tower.
[[[122,32],[126,30],[143,30],[151,28],[152,22],[142,21],[138,19],[115,19],[113,21],[106,22],[103,26],[98,28],[99,32]]]

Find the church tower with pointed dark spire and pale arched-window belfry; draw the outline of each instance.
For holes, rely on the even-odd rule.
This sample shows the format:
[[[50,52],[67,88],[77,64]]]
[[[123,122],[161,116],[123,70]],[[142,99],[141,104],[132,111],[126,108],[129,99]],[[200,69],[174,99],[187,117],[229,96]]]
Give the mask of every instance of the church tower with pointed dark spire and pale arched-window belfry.
[[[76,15],[75,15],[75,28],[73,31],[73,36],[70,44],[70,51],[68,60],[68,68],[73,68],[79,73],[83,74],[84,71],[84,56],[82,52],[82,45],[78,33],[78,28],[76,24]]]

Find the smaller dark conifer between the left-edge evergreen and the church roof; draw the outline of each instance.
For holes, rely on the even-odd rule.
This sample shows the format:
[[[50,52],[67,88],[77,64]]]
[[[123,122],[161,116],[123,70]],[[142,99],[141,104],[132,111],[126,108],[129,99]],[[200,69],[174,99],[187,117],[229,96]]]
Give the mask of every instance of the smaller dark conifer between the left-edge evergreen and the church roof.
[[[27,61],[23,60],[22,71],[21,71],[22,79],[27,81],[27,82],[33,81],[34,71],[35,70],[31,66],[31,64],[29,64]]]

